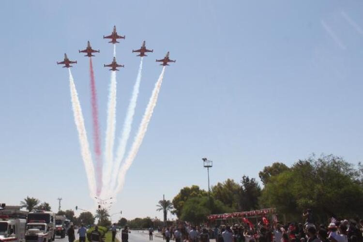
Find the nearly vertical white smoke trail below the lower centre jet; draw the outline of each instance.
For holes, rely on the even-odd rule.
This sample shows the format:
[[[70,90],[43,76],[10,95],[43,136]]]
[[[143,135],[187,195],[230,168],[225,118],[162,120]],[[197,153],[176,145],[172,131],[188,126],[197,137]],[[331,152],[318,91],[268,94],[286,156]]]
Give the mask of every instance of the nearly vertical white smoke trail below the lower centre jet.
[[[116,71],[112,71],[110,89],[108,94],[106,145],[105,145],[106,163],[103,172],[104,185],[102,191],[104,192],[102,192],[102,194],[105,194],[105,192],[109,189],[110,175],[112,172],[113,147],[115,143],[115,130],[116,130],[116,86],[117,86]]]

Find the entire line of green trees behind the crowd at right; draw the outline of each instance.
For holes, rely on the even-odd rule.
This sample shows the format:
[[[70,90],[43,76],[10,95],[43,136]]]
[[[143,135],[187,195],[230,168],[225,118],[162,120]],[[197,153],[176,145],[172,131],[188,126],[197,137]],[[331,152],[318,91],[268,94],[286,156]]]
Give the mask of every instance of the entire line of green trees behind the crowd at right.
[[[302,220],[310,208],[318,221],[358,218],[363,214],[363,166],[342,157],[312,155],[292,166],[275,162],[255,178],[227,179],[212,186],[211,194],[197,185],[184,187],[172,200],[179,219],[202,223],[209,214],[275,208],[279,219]]]

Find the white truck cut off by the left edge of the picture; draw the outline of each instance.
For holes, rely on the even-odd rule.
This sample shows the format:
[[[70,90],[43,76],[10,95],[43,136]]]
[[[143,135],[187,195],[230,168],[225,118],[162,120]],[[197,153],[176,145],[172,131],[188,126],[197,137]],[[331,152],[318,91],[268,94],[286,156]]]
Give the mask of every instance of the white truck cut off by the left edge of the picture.
[[[25,218],[0,214],[0,242],[25,242]]]

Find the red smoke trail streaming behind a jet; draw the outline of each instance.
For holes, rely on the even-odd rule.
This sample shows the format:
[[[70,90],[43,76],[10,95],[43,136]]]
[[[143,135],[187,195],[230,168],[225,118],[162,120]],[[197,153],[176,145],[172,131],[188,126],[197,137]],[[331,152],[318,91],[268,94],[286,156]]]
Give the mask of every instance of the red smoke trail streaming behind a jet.
[[[97,91],[94,81],[92,58],[90,58],[90,77],[91,77],[91,105],[92,105],[92,119],[93,119],[93,146],[94,153],[96,154],[96,183],[97,183],[97,196],[100,195],[102,189],[102,152],[100,141],[100,125],[98,123],[98,106],[97,106]]]

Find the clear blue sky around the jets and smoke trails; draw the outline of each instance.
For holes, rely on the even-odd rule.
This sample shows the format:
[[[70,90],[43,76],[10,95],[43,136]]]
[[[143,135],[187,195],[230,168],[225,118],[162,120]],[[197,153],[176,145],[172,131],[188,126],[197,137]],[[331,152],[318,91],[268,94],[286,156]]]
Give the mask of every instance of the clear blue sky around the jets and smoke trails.
[[[112,212],[127,218],[158,216],[163,194],[183,186],[207,188],[201,158],[214,161],[211,183],[264,166],[292,164],[311,153],[333,153],[357,164],[362,141],[362,1],[37,0],[2,1],[0,7],[0,165],[2,197],[27,195],[57,208],[91,209],[70,103],[63,53],[73,68],[91,142],[87,41],[93,59],[103,138],[113,25],[125,64],[117,76],[117,134],[146,40],[133,125],[142,117],[170,51],[159,101],[141,149]],[[2,202],[2,201],[1,201]],[[56,209],[55,209],[56,210]],[[118,215],[115,215],[115,219]]]

